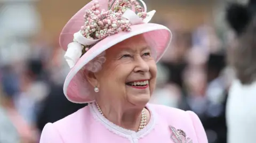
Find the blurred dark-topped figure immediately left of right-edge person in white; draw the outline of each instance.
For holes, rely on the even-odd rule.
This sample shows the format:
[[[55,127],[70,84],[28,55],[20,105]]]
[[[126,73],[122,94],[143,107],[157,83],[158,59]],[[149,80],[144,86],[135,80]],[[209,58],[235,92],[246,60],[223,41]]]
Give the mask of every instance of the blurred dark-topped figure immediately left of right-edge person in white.
[[[204,128],[211,136],[215,134],[214,143],[227,142],[227,125],[226,125],[226,103],[227,87],[226,78],[221,72],[226,67],[225,54],[211,54],[207,61],[207,83],[206,96],[209,100],[208,111],[203,117]],[[209,137],[212,138],[212,137]],[[209,141],[210,142],[210,141]]]

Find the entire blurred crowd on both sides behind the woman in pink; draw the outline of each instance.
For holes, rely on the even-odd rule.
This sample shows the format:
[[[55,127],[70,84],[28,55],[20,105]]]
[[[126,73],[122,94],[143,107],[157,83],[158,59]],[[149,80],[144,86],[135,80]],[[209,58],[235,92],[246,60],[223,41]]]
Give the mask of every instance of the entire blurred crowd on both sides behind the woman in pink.
[[[168,22],[165,26],[173,39],[157,65],[157,88],[150,102],[194,111],[209,143],[227,142],[226,102],[234,79],[227,64],[228,42],[223,43],[208,23],[190,32]],[[0,143],[38,142],[47,122],[86,106],[70,103],[63,95],[70,69],[58,42],[50,43],[45,33],[25,35],[8,35],[0,41]]]

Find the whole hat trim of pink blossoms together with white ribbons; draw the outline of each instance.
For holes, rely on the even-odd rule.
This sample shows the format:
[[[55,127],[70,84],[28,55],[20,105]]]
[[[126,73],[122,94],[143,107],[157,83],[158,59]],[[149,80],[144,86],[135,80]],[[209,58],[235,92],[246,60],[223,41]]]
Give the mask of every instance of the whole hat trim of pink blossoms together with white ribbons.
[[[100,1],[104,2],[93,0],[90,3],[92,5],[89,5],[91,7],[86,5],[82,9],[86,9],[84,24],[79,31],[74,33],[74,39],[67,45],[68,48],[64,55],[70,68],[73,68],[76,62],[100,40],[121,31],[131,31],[136,24],[148,23],[156,12],[155,10],[147,12],[147,6],[142,0]],[[108,6],[108,10],[103,10],[102,6]],[[78,11],[75,19],[80,16],[81,12]]]

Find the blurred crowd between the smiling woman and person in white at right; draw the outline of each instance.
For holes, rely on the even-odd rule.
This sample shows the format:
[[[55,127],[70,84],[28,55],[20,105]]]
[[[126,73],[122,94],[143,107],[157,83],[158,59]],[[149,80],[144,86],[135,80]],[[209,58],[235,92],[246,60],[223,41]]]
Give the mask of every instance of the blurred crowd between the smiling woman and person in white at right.
[[[194,111],[209,142],[227,142],[226,102],[234,74],[214,28],[205,24],[192,33],[174,31],[169,50],[158,64],[151,102]]]

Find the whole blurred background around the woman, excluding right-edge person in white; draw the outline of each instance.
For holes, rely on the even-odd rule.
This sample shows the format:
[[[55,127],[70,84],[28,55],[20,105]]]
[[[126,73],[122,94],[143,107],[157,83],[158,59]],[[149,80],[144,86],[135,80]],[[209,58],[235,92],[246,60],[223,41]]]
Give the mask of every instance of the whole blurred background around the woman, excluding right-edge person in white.
[[[234,71],[227,56],[234,33],[228,0],[144,0],[172,44],[158,63],[151,103],[194,111],[209,143],[227,142],[226,99]],[[89,0],[0,0],[0,142],[38,142],[47,122],[86,105],[69,103],[69,72],[59,47],[66,22]],[[246,1],[237,1],[246,3]]]

